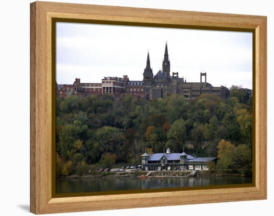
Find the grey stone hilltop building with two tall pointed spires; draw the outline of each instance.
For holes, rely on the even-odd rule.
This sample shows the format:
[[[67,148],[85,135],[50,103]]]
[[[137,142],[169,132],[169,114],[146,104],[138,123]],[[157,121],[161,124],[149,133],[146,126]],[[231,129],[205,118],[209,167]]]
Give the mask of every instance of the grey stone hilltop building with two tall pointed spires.
[[[202,76],[205,76],[204,82],[202,82]],[[172,76],[170,76],[167,43],[165,43],[162,70],[159,70],[155,75],[150,67],[149,53],[147,53],[146,67],[143,71],[143,88],[144,95],[149,100],[165,98],[168,94],[182,94],[187,100],[195,99],[201,94],[215,94],[222,98],[229,97],[228,88],[214,87],[206,82],[206,73],[200,73],[200,82],[186,82],[186,79],[179,77],[178,72],[172,72]]]

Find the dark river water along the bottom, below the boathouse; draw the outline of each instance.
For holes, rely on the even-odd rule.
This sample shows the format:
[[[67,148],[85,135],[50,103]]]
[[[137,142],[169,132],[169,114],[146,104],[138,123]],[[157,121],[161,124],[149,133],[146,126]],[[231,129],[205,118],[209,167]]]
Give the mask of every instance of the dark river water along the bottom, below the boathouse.
[[[250,184],[252,178],[235,176],[197,176],[197,177],[164,177],[140,179],[124,178],[91,178],[91,179],[56,179],[56,194],[81,192],[106,192],[120,190],[140,190],[159,188],[182,188],[212,185]]]

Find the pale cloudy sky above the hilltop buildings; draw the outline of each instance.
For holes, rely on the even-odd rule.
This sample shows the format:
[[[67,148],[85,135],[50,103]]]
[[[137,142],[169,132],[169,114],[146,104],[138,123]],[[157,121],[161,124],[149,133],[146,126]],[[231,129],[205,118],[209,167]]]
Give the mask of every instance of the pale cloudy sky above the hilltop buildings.
[[[252,33],[58,22],[56,80],[59,84],[101,82],[104,76],[142,80],[149,50],[155,75],[161,69],[165,41],[170,74],[199,82],[207,72],[214,86],[252,89]]]

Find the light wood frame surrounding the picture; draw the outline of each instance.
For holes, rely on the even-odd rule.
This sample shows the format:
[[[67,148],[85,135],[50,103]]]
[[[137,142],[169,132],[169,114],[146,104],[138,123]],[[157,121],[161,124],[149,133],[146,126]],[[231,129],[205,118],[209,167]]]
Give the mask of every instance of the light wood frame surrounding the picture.
[[[30,212],[126,209],[267,199],[267,17],[56,2],[30,4]],[[255,186],[52,198],[52,18],[122,21],[255,32]],[[55,79],[55,78],[54,78]],[[55,92],[54,92],[55,94]],[[166,199],[162,199],[165,197]]]

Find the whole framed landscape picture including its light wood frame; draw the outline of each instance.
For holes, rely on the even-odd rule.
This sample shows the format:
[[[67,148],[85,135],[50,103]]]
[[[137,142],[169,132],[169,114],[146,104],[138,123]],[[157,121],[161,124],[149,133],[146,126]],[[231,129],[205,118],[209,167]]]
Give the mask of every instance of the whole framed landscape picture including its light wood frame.
[[[30,9],[32,213],[267,199],[267,17]]]

